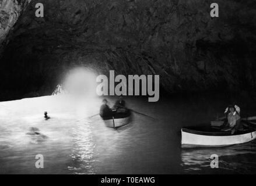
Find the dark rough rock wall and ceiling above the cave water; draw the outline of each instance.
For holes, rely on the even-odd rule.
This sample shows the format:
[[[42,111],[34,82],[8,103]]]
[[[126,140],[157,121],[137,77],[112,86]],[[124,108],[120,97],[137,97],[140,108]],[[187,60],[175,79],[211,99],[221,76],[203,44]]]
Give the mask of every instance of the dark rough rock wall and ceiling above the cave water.
[[[43,18],[34,16],[37,2]],[[254,89],[256,3],[215,2],[218,18],[209,0],[33,1],[0,59],[2,90],[48,94],[75,65],[159,74],[168,92]]]

